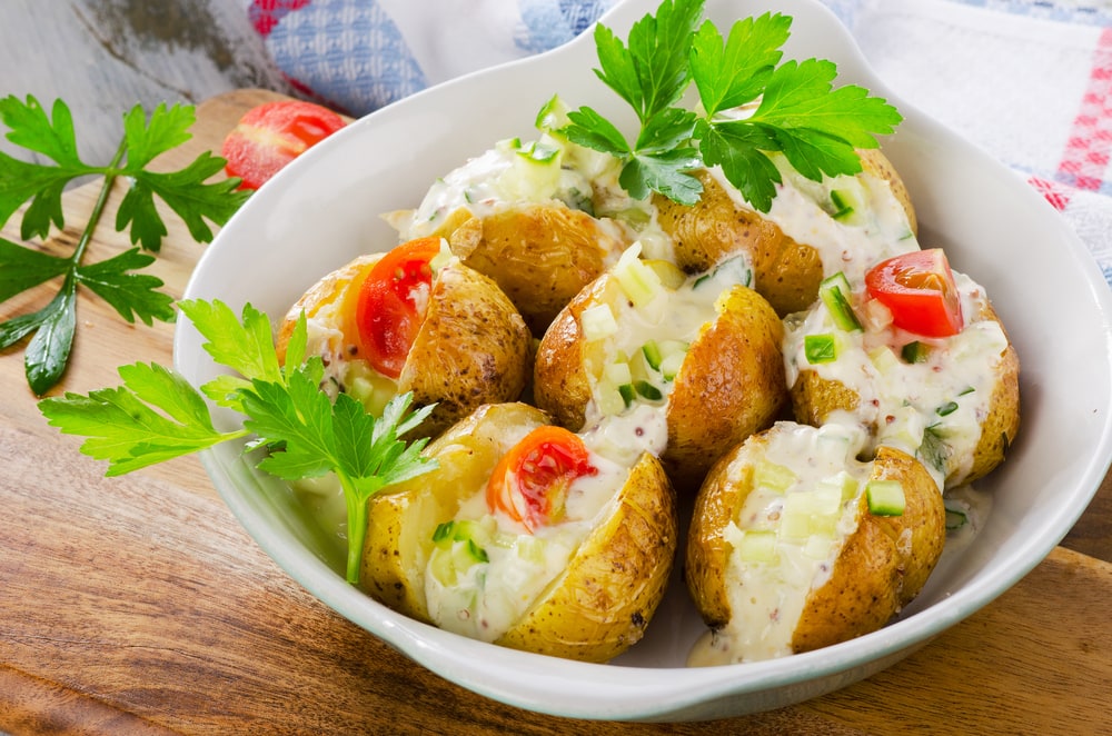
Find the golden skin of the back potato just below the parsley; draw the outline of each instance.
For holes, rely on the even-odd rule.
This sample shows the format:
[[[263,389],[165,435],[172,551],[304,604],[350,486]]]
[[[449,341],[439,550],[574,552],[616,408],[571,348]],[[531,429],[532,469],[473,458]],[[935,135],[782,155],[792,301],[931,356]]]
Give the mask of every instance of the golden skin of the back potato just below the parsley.
[[[811,306],[823,280],[818,251],[784,233],[759,212],[738,206],[708,171],[698,171],[703,197],[693,207],[655,196],[657,221],[675,242],[676,265],[706,271],[727,256],[746,252],[753,288],[783,317]]]

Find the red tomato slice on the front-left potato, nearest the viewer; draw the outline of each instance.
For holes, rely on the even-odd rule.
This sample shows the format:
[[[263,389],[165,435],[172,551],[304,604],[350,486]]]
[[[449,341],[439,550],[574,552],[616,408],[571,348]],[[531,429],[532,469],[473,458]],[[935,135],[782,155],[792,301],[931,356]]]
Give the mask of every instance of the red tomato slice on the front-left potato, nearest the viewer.
[[[487,484],[487,508],[500,509],[534,531],[564,515],[572,481],[597,473],[577,435],[537,427],[498,461]]]

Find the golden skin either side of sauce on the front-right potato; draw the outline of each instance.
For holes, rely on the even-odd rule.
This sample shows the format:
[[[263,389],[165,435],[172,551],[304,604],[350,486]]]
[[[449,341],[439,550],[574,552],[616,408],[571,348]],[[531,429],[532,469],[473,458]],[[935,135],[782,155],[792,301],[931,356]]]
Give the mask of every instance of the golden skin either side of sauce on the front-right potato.
[[[732,617],[726,589],[732,549],[724,533],[753,490],[749,458],[767,441],[766,435],[756,435],[719,459],[695,500],[684,579],[712,628],[725,626]],[[919,594],[942,554],[945,508],[922,464],[905,452],[882,447],[871,478],[900,480],[906,497],[904,514],[873,516],[865,494],[861,494],[856,530],[845,539],[828,580],[807,596],[792,638],[796,653],[884,626]]]

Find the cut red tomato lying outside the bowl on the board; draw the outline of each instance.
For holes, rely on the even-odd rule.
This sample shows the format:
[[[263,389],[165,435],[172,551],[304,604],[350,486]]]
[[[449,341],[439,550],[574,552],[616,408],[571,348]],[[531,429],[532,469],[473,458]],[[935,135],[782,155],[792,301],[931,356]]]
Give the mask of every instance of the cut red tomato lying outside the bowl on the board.
[[[240,189],[258,189],[344,126],[344,118],[311,102],[277,100],[256,106],[224,139],[225,171],[242,179]]]

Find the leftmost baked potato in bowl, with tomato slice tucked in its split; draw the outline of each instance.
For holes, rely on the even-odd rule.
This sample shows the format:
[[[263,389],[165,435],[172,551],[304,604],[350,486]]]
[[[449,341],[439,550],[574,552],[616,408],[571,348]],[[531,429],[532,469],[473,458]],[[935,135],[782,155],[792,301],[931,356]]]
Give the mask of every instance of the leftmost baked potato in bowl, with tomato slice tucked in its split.
[[[320,279],[279,326],[279,359],[304,311],[324,388],[350,392],[374,414],[411,391],[415,407],[436,404],[423,436],[481,404],[517,399],[532,371],[529,330],[490,278],[445,257],[440,242],[361,256]],[[391,275],[405,269],[413,272]]]

